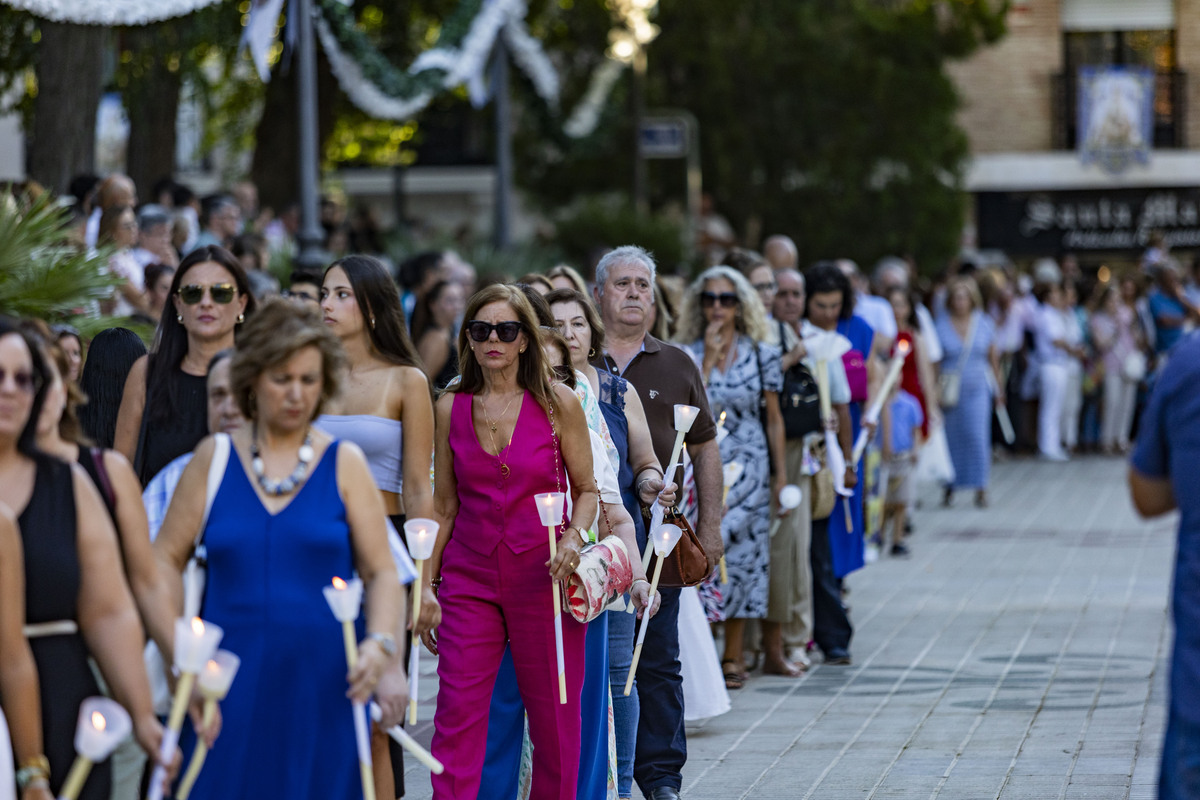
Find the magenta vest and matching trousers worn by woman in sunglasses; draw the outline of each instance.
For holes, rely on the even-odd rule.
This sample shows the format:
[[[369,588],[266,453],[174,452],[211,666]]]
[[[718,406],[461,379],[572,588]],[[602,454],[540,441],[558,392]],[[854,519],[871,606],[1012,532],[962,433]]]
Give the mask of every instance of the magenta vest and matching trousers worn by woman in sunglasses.
[[[529,392],[521,399],[512,440],[499,457],[485,451],[475,435],[473,401],[473,395],[457,393],[450,411],[458,515],[442,557],[438,595],[440,685],[432,748],[445,771],[433,776],[433,798],[479,795],[492,687],[509,642],[529,715],[530,800],[574,798],[587,626],[565,612],[562,615],[566,704],[560,704],[546,567],[550,546],[534,501],[535,494],[566,491],[562,457],[556,457],[550,420]]]

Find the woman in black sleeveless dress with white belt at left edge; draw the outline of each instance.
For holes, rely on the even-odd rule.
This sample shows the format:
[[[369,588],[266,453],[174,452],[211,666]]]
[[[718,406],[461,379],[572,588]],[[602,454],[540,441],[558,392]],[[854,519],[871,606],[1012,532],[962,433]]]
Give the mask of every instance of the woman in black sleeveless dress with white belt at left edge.
[[[35,445],[49,378],[37,343],[0,319],[0,503],[18,515],[26,634],[37,663],[50,789],[58,794],[74,759],[79,704],[100,691],[89,656],[130,711],[148,753],[157,753],[162,726],[151,706],[142,626],[104,504],[83,469]],[[108,765],[97,765],[80,798],[108,796]]]

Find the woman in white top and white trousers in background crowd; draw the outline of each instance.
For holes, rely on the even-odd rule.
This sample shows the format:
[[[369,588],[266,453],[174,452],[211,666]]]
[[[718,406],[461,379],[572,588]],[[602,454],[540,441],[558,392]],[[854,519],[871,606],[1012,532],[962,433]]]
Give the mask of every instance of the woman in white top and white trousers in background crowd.
[[[1061,285],[1043,290],[1038,309],[1034,342],[1042,384],[1038,407],[1038,451],[1050,461],[1067,461],[1062,446],[1063,409],[1070,387],[1072,369],[1080,368],[1084,351],[1080,330],[1067,309],[1067,297]]]

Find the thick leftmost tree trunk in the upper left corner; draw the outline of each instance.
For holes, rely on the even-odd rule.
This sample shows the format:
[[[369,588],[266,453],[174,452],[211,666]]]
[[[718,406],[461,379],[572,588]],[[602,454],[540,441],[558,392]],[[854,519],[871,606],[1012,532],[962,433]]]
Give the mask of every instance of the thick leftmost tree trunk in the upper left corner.
[[[96,166],[108,29],[42,22],[41,31],[29,176],[52,192],[65,192],[72,176]]]

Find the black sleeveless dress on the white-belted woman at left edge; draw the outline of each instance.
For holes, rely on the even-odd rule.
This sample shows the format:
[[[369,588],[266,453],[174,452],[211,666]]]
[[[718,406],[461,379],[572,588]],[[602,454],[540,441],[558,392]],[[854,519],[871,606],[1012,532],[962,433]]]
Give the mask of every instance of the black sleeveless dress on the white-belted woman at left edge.
[[[25,548],[25,621],[78,621],[80,571],[71,467],[48,456],[40,456],[36,464],[34,494],[19,517]],[[79,633],[32,637],[29,646],[37,663],[50,789],[58,795],[74,760],[79,704],[98,694],[100,687]],[[108,764],[97,764],[80,800],[107,800],[110,781]]]

